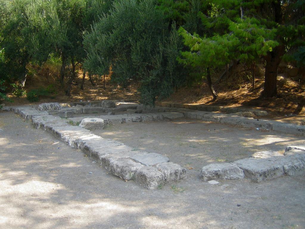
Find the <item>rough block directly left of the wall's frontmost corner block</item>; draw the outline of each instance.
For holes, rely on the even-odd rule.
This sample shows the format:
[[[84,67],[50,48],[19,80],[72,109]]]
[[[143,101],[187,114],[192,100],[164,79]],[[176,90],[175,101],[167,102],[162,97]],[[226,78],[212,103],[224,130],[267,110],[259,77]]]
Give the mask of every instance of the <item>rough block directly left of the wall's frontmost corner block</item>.
[[[134,162],[128,158],[113,159],[109,163],[109,171],[119,176],[124,180],[131,180],[135,178],[135,174],[141,169],[143,165]]]

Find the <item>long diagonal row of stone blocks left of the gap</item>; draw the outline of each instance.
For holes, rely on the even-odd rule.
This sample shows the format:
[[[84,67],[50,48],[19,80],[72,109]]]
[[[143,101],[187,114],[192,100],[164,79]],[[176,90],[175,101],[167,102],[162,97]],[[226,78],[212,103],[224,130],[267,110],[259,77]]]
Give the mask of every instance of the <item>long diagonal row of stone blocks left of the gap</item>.
[[[13,108],[23,118],[31,119],[33,125],[41,127],[70,146],[89,154],[105,169],[124,180],[153,189],[159,185],[176,182],[186,177],[186,169],[169,162],[167,157],[145,151],[134,151],[131,147],[96,136],[80,126],[71,126],[58,117],[34,108]]]

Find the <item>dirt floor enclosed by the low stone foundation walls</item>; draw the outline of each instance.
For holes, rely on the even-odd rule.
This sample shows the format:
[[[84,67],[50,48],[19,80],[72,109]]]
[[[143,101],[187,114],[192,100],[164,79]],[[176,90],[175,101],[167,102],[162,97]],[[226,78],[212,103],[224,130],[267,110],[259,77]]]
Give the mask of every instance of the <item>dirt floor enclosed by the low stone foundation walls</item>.
[[[304,142],[303,137],[284,133],[186,119],[109,125],[93,133],[135,149],[163,154],[188,168],[188,174],[197,180],[204,165],[233,162],[263,150],[284,153],[287,145]]]

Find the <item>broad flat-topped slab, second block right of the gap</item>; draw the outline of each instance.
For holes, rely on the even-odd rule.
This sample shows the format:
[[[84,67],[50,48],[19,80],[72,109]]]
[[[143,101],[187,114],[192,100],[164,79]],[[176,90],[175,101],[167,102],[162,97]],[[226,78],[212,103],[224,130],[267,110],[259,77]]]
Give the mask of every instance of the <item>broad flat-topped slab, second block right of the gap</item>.
[[[284,175],[282,165],[266,159],[246,158],[232,164],[241,168],[245,176],[254,182],[272,180]]]

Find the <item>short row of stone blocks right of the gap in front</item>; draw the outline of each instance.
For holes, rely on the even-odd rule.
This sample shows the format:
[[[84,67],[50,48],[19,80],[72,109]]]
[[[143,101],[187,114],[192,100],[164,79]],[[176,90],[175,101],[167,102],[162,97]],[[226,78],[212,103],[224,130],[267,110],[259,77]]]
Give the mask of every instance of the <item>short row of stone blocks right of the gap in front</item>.
[[[284,155],[275,151],[260,151],[250,158],[232,163],[214,163],[201,169],[203,180],[232,180],[245,176],[254,182],[271,180],[283,175],[305,174],[305,145],[287,146]]]

